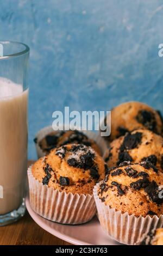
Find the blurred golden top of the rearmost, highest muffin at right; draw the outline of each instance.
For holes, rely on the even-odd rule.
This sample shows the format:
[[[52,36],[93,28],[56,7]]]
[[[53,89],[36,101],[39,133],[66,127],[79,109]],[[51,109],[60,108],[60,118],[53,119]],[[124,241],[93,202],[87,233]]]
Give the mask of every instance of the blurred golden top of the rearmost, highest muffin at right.
[[[104,138],[113,141],[136,129],[148,129],[162,135],[160,112],[142,102],[122,103],[111,110],[111,135]]]

